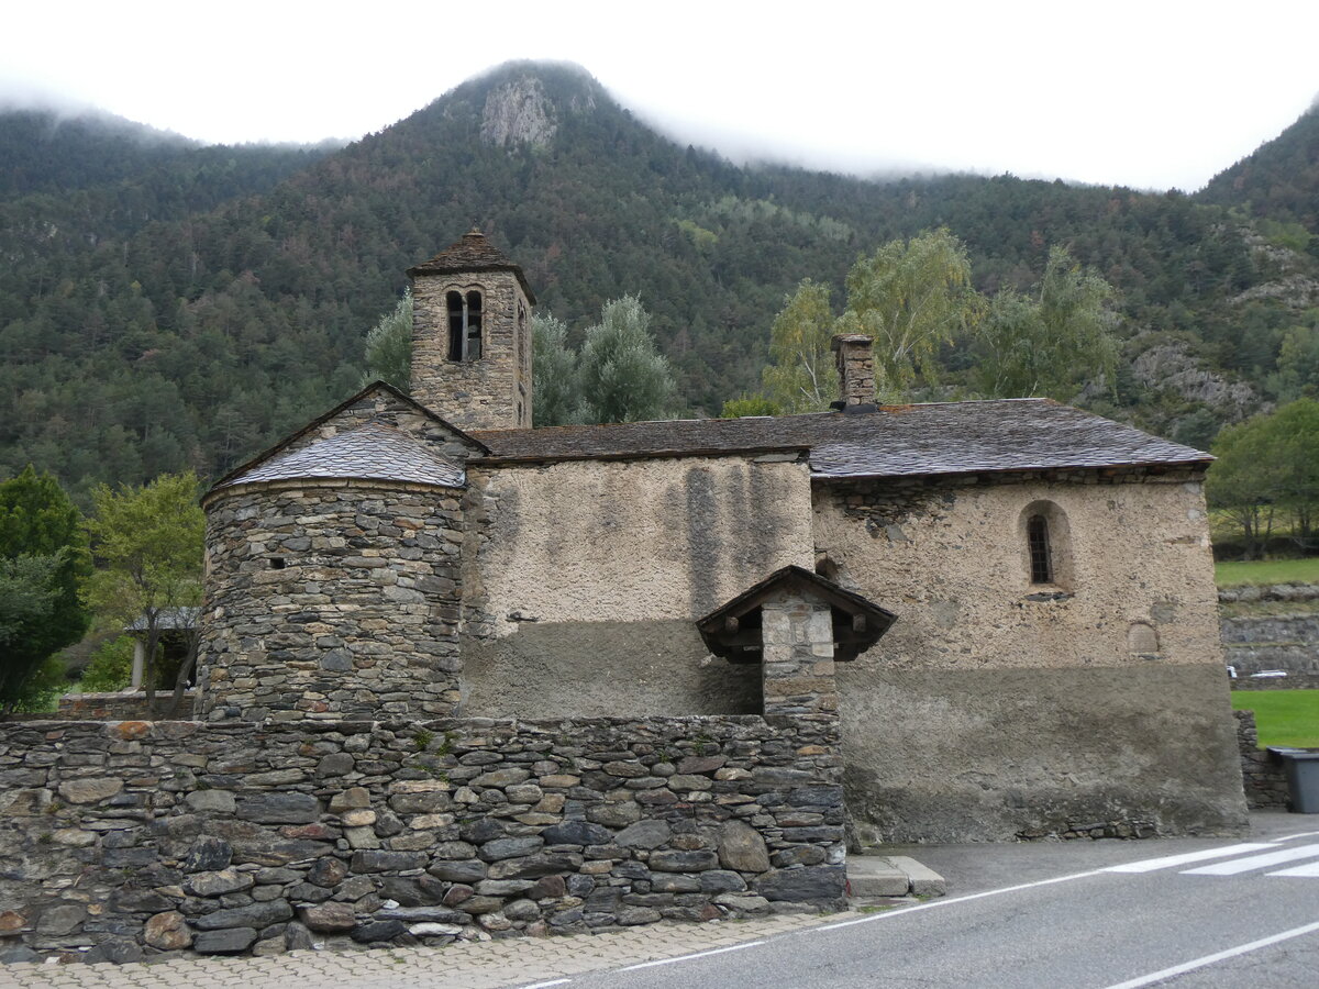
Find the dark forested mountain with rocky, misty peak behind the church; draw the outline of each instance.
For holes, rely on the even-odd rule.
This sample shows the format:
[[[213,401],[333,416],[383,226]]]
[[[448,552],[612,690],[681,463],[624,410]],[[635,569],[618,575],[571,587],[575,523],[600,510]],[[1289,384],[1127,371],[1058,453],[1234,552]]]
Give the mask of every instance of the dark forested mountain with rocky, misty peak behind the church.
[[[474,222],[578,328],[640,293],[696,414],[756,386],[802,277],[840,306],[861,252],[940,224],[981,289],[1037,281],[1051,244],[1095,266],[1128,342],[1117,407],[1089,404],[1187,442],[1274,397],[1298,324],[1319,334],[1312,225],[1269,228],[1244,190],[739,167],[570,66],[503,66],[330,153],[65,127],[0,115],[0,476],[32,460],[79,493],[215,476],[342,400],[404,270]],[[1319,385],[1319,357],[1282,360],[1287,388]]]

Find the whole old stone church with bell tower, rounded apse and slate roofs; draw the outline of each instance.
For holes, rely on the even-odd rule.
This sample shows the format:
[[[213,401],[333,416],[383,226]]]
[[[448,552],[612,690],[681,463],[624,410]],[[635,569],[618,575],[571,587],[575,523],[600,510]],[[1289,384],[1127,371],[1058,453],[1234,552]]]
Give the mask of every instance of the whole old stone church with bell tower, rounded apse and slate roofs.
[[[1244,824],[1206,454],[1047,400],[876,405],[853,336],[836,411],[537,430],[522,270],[474,231],[409,276],[412,396],[206,496],[199,719],[836,709],[863,840]],[[819,621],[772,633],[783,587]]]

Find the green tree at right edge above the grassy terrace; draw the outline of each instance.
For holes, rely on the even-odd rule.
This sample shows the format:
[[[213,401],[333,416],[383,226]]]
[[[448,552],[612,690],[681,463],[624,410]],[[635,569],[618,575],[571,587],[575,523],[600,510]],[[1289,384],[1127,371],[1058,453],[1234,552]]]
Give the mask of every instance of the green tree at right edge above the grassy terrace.
[[[1245,558],[1261,555],[1279,512],[1290,513],[1293,535],[1314,541],[1319,512],[1319,401],[1302,398],[1219,433],[1217,460],[1206,476],[1210,506],[1235,522]]]

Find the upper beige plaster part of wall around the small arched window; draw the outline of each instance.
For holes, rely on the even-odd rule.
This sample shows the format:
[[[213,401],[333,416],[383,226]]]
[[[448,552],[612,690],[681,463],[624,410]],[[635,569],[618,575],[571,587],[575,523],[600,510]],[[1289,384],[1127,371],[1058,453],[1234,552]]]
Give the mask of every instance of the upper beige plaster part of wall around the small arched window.
[[[865,657],[885,669],[1221,665],[1195,481],[867,481],[818,494],[816,546],[842,583],[900,614]],[[1055,584],[1030,583],[1033,505],[1064,517],[1067,538],[1053,526]],[[1157,649],[1133,625],[1153,629]]]

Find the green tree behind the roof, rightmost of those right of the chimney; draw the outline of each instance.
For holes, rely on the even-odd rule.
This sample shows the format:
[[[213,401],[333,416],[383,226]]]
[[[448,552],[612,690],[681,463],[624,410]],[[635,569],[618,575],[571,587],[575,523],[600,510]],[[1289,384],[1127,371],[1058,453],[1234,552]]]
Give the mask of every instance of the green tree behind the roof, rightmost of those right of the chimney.
[[[1038,295],[1002,289],[976,334],[972,385],[985,396],[1068,401],[1087,380],[1117,368],[1112,286],[1083,270],[1066,248],[1049,252]]]

